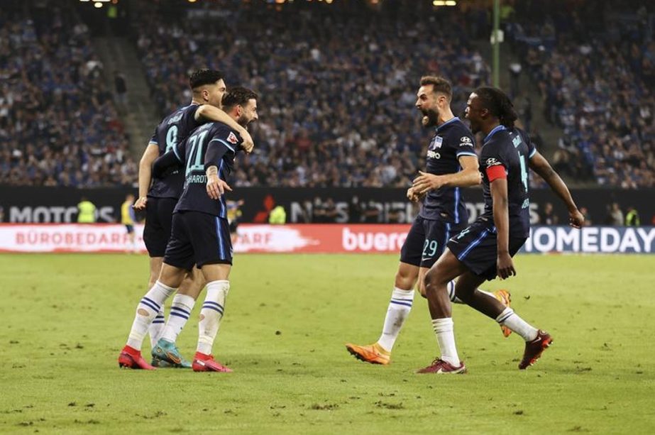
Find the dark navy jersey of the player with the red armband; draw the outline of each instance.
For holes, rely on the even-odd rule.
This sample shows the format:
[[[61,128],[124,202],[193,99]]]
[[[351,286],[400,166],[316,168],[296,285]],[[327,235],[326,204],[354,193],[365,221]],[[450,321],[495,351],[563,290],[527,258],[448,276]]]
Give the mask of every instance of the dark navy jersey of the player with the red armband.
[[[483,141],[480,172],[485,197],[485,211],[480,219],[493,221],[493,201],[487,169],[502,166],[507,174],[507,200],[510,233],[527,237],[530,231],[530,200],[528,167],[536,149],[527,133],[519,128],[497,126]]]

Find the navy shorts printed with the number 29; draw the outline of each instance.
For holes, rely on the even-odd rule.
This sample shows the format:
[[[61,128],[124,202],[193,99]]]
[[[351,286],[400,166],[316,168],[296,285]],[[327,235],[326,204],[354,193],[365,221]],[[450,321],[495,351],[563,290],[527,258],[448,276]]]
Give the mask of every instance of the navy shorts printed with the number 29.
[[[466,224],[450,224],[417,216],[400,249],[400,261],[419,268],[431,268],[444,252],[448,239],[464,228]]]

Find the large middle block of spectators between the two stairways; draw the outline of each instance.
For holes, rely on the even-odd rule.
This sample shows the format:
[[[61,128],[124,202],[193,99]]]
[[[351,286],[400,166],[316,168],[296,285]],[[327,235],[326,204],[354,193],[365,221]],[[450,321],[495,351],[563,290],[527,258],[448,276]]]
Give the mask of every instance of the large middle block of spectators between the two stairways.
[[[257,153],[240,160],[236,185],[407,186],[431,134],[414,109],[419,77],[451,77],[456,114],[470,89],[489,80],[461,14],[258,6],[144,4],[148,13],[132,15],[141,17],[133,28],[162,114],[189,101],[190,65],[260,92]]]

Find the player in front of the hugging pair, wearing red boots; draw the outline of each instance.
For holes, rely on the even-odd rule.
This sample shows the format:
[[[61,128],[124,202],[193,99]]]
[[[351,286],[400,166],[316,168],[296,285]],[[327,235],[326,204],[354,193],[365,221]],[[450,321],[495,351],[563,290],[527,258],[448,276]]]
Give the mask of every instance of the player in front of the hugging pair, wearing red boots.
[[[241,126],[246,127],[258,119],[257,94],[249,89],[231,89],[224,97],[223,106]],[[207,297],[200,312],[198,346],[192,368],[194,371],[231,371],[214,360],[211,348],[219,331],[230,289],[228,279],[232,246],[223,194],[231,188],[225,180],[233,170],[234,158],[242,142],[238,132],[225,123],[206,123],[192,131],[172,151],[155,160],[155,175],[170,167],[183,165],[184,191],[173,212],[172,231],[162,270],[155,285],[138,304],[127,345],[119,356],[119,365],[153,368],[141,357],[145,331],[165,300],[175,292],[186,272],[192,270],[195,264],[207,281]],[[169,324],[172,321],[175,318],[170,316]],[[175,343],[166,338],[165,331],[163,339],[153,351],[157,351],[160,358],[175,363],[181,357]]]

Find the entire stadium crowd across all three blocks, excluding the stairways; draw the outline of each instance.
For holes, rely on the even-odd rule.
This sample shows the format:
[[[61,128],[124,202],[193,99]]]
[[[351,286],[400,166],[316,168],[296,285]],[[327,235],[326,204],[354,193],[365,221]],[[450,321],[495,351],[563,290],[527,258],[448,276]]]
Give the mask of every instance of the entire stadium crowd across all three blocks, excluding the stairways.
[[[546,119],[564,132],[554,167],[599,185],[654,187],[652,6],[554,1],[510,1],[504,11]],[[240,161],[236,185],[407,186],[431,134],[419,126],[415,84],[426,73],[450,78],[461,115],[470,89],[490,81],[470,40],[488,35],[488,10],[305,3],[133,2],[133,39],[160,114],[190,100],[191,70],[218,68],[229,85],[260,92],[256,153]],[[4,4],[0,184],[136,181],[103,68],[74,7]]]

